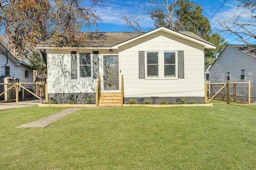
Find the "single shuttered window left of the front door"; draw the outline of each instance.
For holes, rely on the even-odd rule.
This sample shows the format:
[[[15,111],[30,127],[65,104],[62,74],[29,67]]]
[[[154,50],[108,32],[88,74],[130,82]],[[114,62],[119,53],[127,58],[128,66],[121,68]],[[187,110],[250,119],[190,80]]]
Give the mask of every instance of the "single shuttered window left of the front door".
[[[79,77],[90,78],[92,76],[91,53],[79,54]]]

